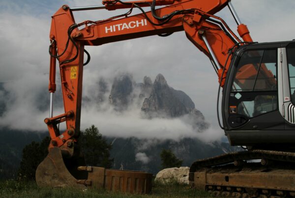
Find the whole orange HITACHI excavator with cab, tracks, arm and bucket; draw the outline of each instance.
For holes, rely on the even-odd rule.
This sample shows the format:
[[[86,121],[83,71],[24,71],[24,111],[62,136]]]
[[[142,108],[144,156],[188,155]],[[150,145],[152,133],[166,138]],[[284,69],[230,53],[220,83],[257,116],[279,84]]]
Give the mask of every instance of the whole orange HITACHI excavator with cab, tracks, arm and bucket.
[[[102,4],[62,5],[52,16],[50,115],[44,120],[51,142],[48,156],[36,170],[37,184],[151,192],[150,173],[85,164],[78,142],[83,66],[90,60],[84,47],[184,31],[209,58],[218,76],[220,127],[231,145],[245,148],[195,161],[189,172],[191,187],[215,196],[295,197],[295,41],[253,42],[231,0],[103,0]],[[238,35],[215,16],[225,7],[236,22]],[[94,9],[128,11],[108,19],[75,22],[73,12]],[[134,9],[140,13],[132,15]],[[64,113],[53,116],[57,60]],[[59,131],[61,122],[66,123],[65,131]]]

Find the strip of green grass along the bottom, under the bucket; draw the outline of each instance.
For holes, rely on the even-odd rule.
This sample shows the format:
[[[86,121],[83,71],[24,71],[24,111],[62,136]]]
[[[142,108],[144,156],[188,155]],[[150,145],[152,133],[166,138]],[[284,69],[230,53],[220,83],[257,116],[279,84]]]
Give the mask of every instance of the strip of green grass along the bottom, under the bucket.
[[[87,190],[64,188],[39,188],[35,182],[14,180],[0,181],[1,198],[206,198],[211,197],[205,191],[191,189],[188,185],[155,182],[151,195],[133,195],[105,190]]]

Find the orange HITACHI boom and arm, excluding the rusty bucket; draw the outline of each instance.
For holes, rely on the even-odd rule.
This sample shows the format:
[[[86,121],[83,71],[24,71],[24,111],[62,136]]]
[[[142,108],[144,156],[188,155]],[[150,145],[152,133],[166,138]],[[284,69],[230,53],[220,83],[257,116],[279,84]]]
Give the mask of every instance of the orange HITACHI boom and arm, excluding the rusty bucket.
[[[85,21],[79,24],[75,23],[72,14],[72,10],[75,9],[63,5],[52,17],[49,91],[54,93],[56,89],[55,70],[56,58],[58,58],[65,113],[45,119],[52,139],[50,148],[63,147],[73,154],[72,149],[65,145],[72,145],[80,130],[83,60],[84,46],[86,45],[97,46],[151,35],[165,36],[184,30],[187,38],[210,58],[219,80],[221,80],[221,74],[225,68],[221,80],[224,81],[230,64],[230,61],[226,61],[230,58],[229,50],[236,43],[241,42],[221,18],[214,16],[229,2],[229,0],[206,2],[204,0],[128,2],[106,0],[103,1],[103,8],[105,9],[130,8],[130,10],[117,17],[99,21]],[[167,4],[169,5],[154,9],[155,5]],[[150,6],[151,11],[145,12],[142,9],[145,6]],[[142,13],[131,16],[130,14],[135,8],[141,9]],[[252,42],[245,25],[240,24],[238,32],[243,41]],[[111,57],[115,55],[103,56]],[[60,134],[57,124],[62,121],[66,121],[67,130]]]

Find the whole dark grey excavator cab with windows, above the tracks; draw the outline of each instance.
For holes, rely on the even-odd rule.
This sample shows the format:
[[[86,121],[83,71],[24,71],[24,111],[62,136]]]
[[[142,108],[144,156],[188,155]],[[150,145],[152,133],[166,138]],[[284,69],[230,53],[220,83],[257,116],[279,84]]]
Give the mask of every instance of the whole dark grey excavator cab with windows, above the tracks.
[[[222,114],[231,145],[266,148],[295,143],[295,41],[236,50],[223,89]]]

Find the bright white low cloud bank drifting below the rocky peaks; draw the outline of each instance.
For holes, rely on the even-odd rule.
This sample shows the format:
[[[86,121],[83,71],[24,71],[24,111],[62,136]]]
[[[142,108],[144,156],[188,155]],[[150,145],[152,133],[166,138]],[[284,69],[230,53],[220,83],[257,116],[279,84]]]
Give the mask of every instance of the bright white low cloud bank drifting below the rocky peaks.
[[[135,89],[134,92],[137,92],[137,90]],[[81,120],[82,128],[95,124],[105,136],[136,137],[150,139],[152,142],[154,142],[154,139],[177,141],[182,138],[198,138],[210,142],[218,141],[224,136],[221,129],[213,127],[209,127],[207,130],[199,129],[198,126],[192,124],[192,117],[188,115],[148,119],[141,111],[144,98],[133,99],[133,103],[126,110],[116,111],[116,108],[109,104],[108,95],[109,93],[105,94],[106,100],[103,103],[93,104],[93,102],[89,102],[84,104]],[[147,145],[152,142],[147,141]],[[142,147],[145,147],[145,145],[142,145]]]

